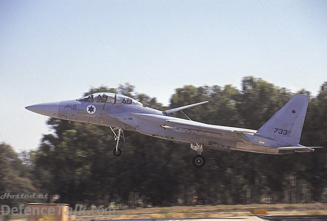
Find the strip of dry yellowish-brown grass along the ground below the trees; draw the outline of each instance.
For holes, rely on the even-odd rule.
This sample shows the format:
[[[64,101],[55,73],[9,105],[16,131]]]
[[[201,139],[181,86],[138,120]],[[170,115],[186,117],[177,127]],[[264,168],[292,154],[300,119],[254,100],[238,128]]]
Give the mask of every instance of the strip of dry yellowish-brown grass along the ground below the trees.
[[[116,209],[116,216],[108,217],[108,219],[249,216],[251,215],[251,209],[266,209],[268,214],[271,215],[327,215],[326,208],[327,205],[322,203],[171,206]]]

